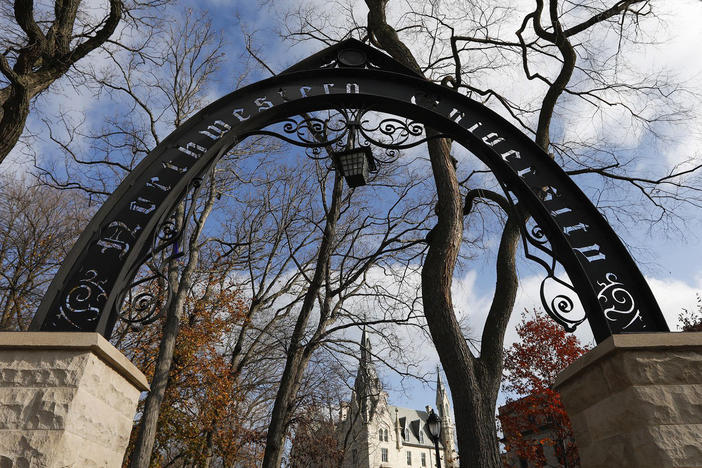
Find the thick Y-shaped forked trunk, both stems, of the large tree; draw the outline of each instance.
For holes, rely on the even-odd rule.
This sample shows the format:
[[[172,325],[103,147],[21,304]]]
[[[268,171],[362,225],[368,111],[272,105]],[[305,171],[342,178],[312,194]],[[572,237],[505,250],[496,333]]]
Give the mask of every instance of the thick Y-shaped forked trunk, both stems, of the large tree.
[[[404,65],[421,70],[409,49],[385,19],[386,2],[366,0],[371,38]],[[431,133],[428,129],[427,133]],[[495,405],[502,374],[502,343],[509,321],[517,278],[515,254],[519,224],[510,216],[503,231],[497,258],[495,297],[485,324],[481,357],[470,352],[456,320],[451,285],[463,240],[463,204],[450,155],[450,142],[428,143],[436,185],[437,224],[429,236],[429,250],[422,268],[422,298],[432,341],[436,346],[453,396],[456,436],[461,467],[501,468]]]

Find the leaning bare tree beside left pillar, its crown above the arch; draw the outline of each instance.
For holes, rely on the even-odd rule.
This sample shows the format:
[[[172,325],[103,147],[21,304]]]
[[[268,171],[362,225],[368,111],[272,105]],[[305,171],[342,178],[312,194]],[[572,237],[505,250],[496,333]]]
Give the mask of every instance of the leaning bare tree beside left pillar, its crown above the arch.
[[[207,85],[223,55],[223,41],[208,18],[188,10],[182,19],[165,19],[147,35],[158,42],[160,48],[106,48],[108,67],[85,67],[83,76],[97,92],[114,99],[119,111],[101,129],[87,125],[84,130],[85,122],[76,123],[66,114],[60,116],[64,132],[54,131],[52,123],[47,122],[49,138],[67,158],[63,172],[37,160],[43,183],[103,198],[169,130],[204,105]],[[91,151],[86,153],[83,148],[79,152],[76,147],[86,141]],[[84,169],[70,169],[76,166]],[[168,229],[183,233],[179,245],[174,247],[181,249],[183,255],[172,255],[168,249],[144,267],[149,275],[156,277],[158,289],[165,292],[165,304],[160,308],[159,322],[163,328],[158,358],[138,425],[131,466],[149,466],[151,460],[180,321],[186,300],[194,294],[196,275],[202,268],[200,252],[207,239],[200,237],[223,189],[222,183],[224,180],[218,178],[215,168],[202,180],[195,181],[168,220]],[[124,307],[129,309],[130,306],[132,304],[127,301]],[[127,316],[130,313],[125,311]]]

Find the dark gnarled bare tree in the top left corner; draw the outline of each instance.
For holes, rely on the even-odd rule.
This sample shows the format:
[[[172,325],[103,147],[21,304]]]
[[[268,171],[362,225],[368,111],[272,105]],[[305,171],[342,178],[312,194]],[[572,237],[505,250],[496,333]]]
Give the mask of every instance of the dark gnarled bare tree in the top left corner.
[[[162,0],[105,0],[104,13],[81,0],[4,2],[0,7],[0,163],[25,127],[30,103],[78,61],[110,42],[120,23],[146,20]]]

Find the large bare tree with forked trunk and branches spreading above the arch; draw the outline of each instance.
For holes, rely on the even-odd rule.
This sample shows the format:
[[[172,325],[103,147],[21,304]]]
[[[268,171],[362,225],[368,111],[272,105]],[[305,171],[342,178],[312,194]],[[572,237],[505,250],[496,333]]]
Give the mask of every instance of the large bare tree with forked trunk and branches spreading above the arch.
[[[582,99],[596,109],[622,108],[633,122],[650,130],[653,122],[685,118],[686,109],[678,100],[686,96],[684,90],[666,82],[663,76],[641,81],[628,76],[629,80],[625,81],[624,73],[620,77],[619,68],[611,65],[623,60],[621,44],[629,38],[636,40],[640,23],[652,16],[649,1],[614,1],[607,5],[607,2],[535,0],[533,10],[516,22],[520,27],[508,39],[502,37],[503,25],[514,19],[509,15],[518,14],[517,9],[484,2],[452,2],[442,10],[439,2],[408,2],[395,27],[388,20],[388,0],[365,3],[367,25],[350,14],[340,31],[334,30],[326,24],[322,26],[329,17],[298,10],[288,18],[293,19],[288,22],[288,35],[296,40],[313,38],[332,43],[356,32],[428,79],[441,80],[458,91],[499,106],[532,133],[536,142],[553,154],[571,175],[597,174],[605,185],[614,182],[643,194],[643,203],[633,204],[633,208],[602,204],[603,210],[620,216],[639,212],[655,223],[663,218],[675,220],[673,208],[680,204],[700,206],[701,192],[694,180],[699,164],[675,167],[657,177],[637,177],[627,172],[627,161],[620,161],[605,145],[559,141],[553,135],[557,111],[563,109],[566,97]],[[352,13],[353,9],[349,7],[347,11]],[[610,56],[598,55],[600,51],[590,40],[597,37],[595,31],[615,34],[620,47],[615,47]],[[527,80],[538,81],[539,89],[545,90],[539,91],[541,97],[536,105],[510,99],[479,79],[481,72],[507,70],[515,59]],[[657,112],[646,112],[635,105],[632,96],[656,99],[661,105],[656,107]],[[436,225],[428,237],[429,250],[422,269],[424,314],[451,386],[461,466],[498,467],[501,462],[495,402],[502,373],[502,343],[518,287],[516,252],[520,226],[526,220],[513,212],[503,195],[490,190],[492,187],[468,187],[468,182],[476,183],[471,176],[461,181],[450,149],[451,142],[447,140],[428,144],[438,202]],[[474,353],[456,318],[451,286],[464,248],[464,217],[480,206],[477,201],[488,202],[503,211],[506,221],[497,250],[495,294],[480,347]],[[651,208],[656,216],[650,216]]]

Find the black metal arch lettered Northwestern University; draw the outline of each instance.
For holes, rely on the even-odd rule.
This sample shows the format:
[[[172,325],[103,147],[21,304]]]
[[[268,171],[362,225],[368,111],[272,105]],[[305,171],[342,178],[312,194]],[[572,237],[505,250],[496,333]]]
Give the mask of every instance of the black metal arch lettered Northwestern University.
[[[271,123],[335,108],[414,119],[478,156],[510,201],[518,201],[536,223],[523,229],[525,247],[546,253],[552,262],[527,255],[557,282],[555,261],[563,265],[598,342],[613,333],[668,330],[643,275],[607,221],[529,137],[485,106],[355,40],[235,91],[177,128],[88,224],[31,328],[109,337],[138,268],[179,236],[168,216],[202,174],[237,142]],[[567,318],[573,302],[565,295],[549,299],[542,288],[542,302],[568,329],[582,321]]]

